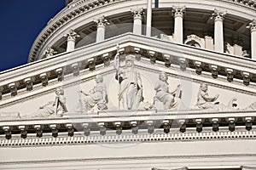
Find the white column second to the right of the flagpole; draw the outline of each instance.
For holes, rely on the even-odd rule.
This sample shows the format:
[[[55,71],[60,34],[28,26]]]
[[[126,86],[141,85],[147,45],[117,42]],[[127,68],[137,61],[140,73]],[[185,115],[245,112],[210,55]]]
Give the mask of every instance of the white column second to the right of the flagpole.
[[[225,11],[214,9],[212,19],[214,19],[214,50],[224,53],[224,31],[223,20]]]

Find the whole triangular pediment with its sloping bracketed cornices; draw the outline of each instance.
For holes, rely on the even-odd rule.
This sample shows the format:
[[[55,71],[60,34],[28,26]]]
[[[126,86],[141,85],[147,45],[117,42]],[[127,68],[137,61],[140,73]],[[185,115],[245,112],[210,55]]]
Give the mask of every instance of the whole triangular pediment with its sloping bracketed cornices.
[[[119,44],[118,47],[117,44]],[[119,95],[125,92],[125,88],[120,89],[122,82],[119,83],[115,79],[117,71],[113,67],[118,60],[120,70],[125,70],[125,60],[129,56],[134,63],[134,72],[140,77],[136,79],[137,76],[133,76],[131,79],[136,80],[130,81],[125,88],[131,84],[137,86],[138,80],[141,81],[142,86],[134,89],[140,90],[141,99],[139,99],[139,104],[133,108],[131,106],[128,108],[126,104],[125,107],[121,106],[124,104],[119,100]],[[13,112],[20,113],[21,117],[33,115],[40,110],[40,106],[42,108],[42,105],[53,102],[56,88],[64,90],[65,105],[67,111],[70,112],[150,109],[246,111],[247,107],[249,110],[254,110],[252,105],[256,101],[255,84],[252,82],[255,72],[254,63],[234,57],[226,59],[227,57],[230,56],[159,39],[126,34],[123,37],[109,39],[108,42],[92,44],[73,52],[59,54],[34,64],[3,72],[0,77],[3,94],[0,112],[3,113],[3,117]],[[48,66],[45,67],[45,65]],[[245,65],[251,66],[245,67]],[[165,89],[166,94],[163,93],[157,97],[158,91],[162,90],[155,87],[160,80],[161,73],[165,73],[168,77],[166,85],[162,84],[168,89]],[[124,72],[121,74],[124,76]],[[131,71],[126,71],[125,74],[129,75]],[[88,111],[86,106],[84,108],[86,96],[80,91],[82,90],[87,95],[93,90],[96,86],[94,80],[96,75],[102,75],[104,79],[108,104],[102,105],[105,108],[99,108],[97,107],[99,99],[92,100],[90,111]],[[126,76],[126,78],[130,77]],[[217,97],[205,99],[208,100],[206,105],[212,106],[197,105],[198,93],[203,83],[208,86],[207,91],[204,92],[208,98],[215,98],[218,95],[218,99]],[[247,86],[249,83],[250,85]],[[134,100],[134,97],[129,98]],[[171,106],[163,106],[169,105],[166,104],[167,98],[173,98]],[[178,105],[175,99],[180,100]],[[170,103],[170,101],[167,102]]]

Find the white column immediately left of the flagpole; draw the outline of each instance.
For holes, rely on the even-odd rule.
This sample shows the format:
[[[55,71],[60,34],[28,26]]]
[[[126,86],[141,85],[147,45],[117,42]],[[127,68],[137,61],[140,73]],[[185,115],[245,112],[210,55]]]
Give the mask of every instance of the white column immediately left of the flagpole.
[[[133,33],[142,35],[143,8],[133,8],[131,13],[133,14]]]

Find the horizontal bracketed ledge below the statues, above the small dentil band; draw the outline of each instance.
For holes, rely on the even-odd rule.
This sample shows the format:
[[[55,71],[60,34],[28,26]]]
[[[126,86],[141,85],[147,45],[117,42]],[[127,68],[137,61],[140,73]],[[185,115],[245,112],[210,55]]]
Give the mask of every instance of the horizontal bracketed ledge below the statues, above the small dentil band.
[[[12,135],[17,137],[19,134],[22,139],[26,139],[27,136],[32,137],[32,134],[41,138],[43,134],[49,135],[50,133],[55,138],[58,133],[61,135],[67,133],[66,135],[70,137],[81,134],[104,136],[106,133],[113,136],[122,133],[129,135],[171,133],[173,138],[183,136],[188,139],[198,135],[204,136],[203,134],[212,135],[212,139],[217,134],[247,137],[247,133],[250,133],[250,137],[255,138],[255,125],[256,116],[253,111],[212,113],[155,110],[100,111],[84,114],[67,112],[63,117],[1,120],[0,133],[2,137],[5,135],[6,139],[11,139]]]

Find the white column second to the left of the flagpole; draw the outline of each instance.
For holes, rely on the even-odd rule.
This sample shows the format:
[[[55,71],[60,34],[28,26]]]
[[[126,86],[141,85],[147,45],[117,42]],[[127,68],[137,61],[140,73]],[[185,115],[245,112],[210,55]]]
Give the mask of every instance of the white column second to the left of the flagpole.
[[[101,16],[98,20],[94,20],[97,24],[96,42],[102,42],[105,39],[105,29],[109,25],[108,20],[105,16]]]

